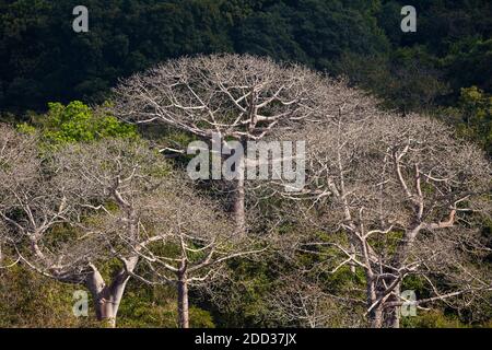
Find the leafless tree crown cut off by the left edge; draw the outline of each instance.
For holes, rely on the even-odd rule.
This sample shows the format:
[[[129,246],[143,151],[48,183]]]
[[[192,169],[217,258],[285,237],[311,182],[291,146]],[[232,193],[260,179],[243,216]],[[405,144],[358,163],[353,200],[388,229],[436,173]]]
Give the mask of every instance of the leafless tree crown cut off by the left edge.
[[[3,243],[14,249],[15,261],[60,281],[82,282],[81,261],[87,253],[82,245],[67,254],[68,245],[62,240],[58,246],[47,244],[54,238],[51,230],[61,228],[75,213],[69,190],[57,186],[54,174],[44,167],[36,136],[21,135],[8,126],[1,128],[0,218],[7,229]]]

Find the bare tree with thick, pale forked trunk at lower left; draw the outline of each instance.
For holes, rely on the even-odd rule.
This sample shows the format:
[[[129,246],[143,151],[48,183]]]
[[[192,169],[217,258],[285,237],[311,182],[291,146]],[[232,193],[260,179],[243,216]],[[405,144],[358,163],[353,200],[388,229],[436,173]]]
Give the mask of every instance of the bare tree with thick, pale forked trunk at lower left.
[[[144,142],[117,139],[70,145],[58,152],[55,161],[59,185],[74,183],[77,201],[97,214],[78,226],[86,237],[101,241],[107,249],[103,256],[115,257],[121,264],[106,283],[90,261],[91,275],[85,281],[98,305],[97,317],[114,326],[126,284],[139,260],[138,252],[144,245],[141,215],[147,208],[141,206],[141,198],[152,196],[171,180],[169,166]]]

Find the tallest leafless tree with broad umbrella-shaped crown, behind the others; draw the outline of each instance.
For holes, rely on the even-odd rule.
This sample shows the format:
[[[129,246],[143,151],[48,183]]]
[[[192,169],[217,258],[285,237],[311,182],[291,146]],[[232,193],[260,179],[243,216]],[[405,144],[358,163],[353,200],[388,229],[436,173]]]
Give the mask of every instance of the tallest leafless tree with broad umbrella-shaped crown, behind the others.
[[[323,79],[300,66],[253,56],[198,56],[167,61],[124,81],[115,90],[114,113],[209,141],[215,132],[224,145],[233,139],[246,147],[274,129],[309,120],[323,96]],[[242,173],[239,168],[233,190],[239,232],[245,231]]]

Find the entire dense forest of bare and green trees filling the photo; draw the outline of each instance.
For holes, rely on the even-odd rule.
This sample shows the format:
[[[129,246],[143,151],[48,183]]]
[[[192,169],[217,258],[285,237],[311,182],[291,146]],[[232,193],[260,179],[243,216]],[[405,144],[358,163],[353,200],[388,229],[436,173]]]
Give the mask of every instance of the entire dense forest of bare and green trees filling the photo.
[[[78,1],[0,0],[0,327],[491,327],[492,2],[411,2],[415,33],[407,1],[86,0],[74,33]],[[255,96],[225,85],[257,77],[277,78],[258,84],[267,127],[242,129]],[[169,150],[212,129],[316,145],[311,192],[184,178]],[[171,233],[154,246],[140,224]],[[396,317],[405,290],[417,316]]]

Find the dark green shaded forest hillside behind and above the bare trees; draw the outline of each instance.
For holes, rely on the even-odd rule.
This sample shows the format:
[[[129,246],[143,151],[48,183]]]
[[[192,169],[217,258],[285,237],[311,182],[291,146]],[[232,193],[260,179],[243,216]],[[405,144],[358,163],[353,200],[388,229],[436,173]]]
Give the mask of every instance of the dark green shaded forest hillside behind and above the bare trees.
[[[26,120],[48,102],[101,103],[168,58],[249,52],[347,75],[405,113],[446,108],[491,152],[491,2],[412,1],[418,31],[402,33],[403,2],[87,0],[90,32],[77,34],[77,1],[2,0],[0,110]]]

